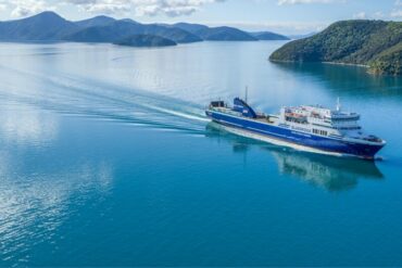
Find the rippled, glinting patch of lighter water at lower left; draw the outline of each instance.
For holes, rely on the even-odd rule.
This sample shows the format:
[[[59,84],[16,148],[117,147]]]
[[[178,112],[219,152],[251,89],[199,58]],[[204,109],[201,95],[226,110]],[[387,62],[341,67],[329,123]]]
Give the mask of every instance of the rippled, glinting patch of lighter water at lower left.
[[[29,261],[35,245],[55,239],[56,229],[74,214],[74,201],[75,205],[87,202],[93,193],[99,199],[108,193],[113,180],[108,163],[43,173],[42,168],[16,169],[10,164],[15,159],[4,159],[4,153],[1,158],[0,259],[20,265]]]

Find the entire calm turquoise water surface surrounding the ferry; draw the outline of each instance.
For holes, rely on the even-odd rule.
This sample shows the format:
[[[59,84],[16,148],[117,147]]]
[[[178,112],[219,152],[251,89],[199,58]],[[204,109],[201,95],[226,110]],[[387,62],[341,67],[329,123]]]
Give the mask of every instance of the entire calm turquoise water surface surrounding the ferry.
[[[282,42],[0,44],[0,266],[402,266],[402,79]],[[242,95],[360,112],[376,163],[214,128]]]

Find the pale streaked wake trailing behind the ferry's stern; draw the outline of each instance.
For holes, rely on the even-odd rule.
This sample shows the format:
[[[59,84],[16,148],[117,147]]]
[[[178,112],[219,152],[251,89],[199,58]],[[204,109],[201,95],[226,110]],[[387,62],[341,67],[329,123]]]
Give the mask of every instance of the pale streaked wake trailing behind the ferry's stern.
[[[2,101],[32,105],[60,114],[118,120],[143,127],[202,133],[209,119],[197,104],[68,74],[0,68],[11,80],[0,89]],[[29,88],[23,88],[24,80]]]

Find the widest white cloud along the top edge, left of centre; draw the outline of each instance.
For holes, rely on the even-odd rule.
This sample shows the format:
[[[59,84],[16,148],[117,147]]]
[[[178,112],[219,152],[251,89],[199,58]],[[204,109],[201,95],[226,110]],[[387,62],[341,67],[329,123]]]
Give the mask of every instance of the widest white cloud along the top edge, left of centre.
[[[190,15],[204,4],[226,0],[64,0],[64,3],[77,5],[89,13],[128,14],[139,16],[181,16]]]

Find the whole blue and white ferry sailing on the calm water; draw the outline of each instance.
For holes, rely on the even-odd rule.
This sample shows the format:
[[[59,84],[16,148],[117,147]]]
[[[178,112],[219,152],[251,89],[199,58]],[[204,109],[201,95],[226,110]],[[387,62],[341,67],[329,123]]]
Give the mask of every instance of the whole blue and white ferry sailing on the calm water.
[[[234,105],[212,101],[205,114],[225,130],[273,144],[336,156],[375,159],[386,141],[366,135],[359,125],[361,115],[322,105],[284,106],[279,114],[255,112],[247,101]]]

